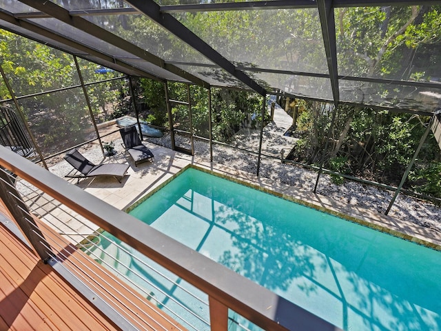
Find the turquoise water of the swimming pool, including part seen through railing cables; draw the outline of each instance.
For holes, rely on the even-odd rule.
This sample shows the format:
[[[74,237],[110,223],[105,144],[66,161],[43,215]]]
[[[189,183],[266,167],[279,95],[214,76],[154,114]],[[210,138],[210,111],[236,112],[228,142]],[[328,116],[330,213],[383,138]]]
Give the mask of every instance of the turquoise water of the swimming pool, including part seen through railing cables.
[[[130,214],[344,330],[441,330],[441,252],[192,168]],[[184,290],[167,283],[121,249],[106,250],[131,265],[125,273],[161,308],[183,310],[208,330],[194,321],[208,320],[207,308],[188,292],[206,301],[204,294],[158,267]]]

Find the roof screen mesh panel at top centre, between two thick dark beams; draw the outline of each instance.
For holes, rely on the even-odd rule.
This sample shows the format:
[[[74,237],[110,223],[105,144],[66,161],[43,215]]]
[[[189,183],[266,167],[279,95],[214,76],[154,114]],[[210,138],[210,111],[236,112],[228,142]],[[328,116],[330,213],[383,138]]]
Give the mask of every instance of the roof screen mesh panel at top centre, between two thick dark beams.
[[[318,10],[232,10],[174,14],[240,66],[326,74]]]

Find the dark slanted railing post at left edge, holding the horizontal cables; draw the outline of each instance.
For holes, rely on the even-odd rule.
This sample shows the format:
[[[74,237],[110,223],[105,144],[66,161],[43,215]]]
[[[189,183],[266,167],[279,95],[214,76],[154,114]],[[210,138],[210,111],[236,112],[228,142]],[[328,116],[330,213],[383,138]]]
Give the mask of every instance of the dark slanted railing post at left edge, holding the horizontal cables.
[[[8,208],[12,218],[17,223],[20,231],[28,239],[34,251],[43,261],[48,261],[51,258],[48,252],[50,245],[32,218],[28,206],[21,199],[19,192],[17,192],[10,174],[3,170],[3,168],[0,170],[0,199]]]

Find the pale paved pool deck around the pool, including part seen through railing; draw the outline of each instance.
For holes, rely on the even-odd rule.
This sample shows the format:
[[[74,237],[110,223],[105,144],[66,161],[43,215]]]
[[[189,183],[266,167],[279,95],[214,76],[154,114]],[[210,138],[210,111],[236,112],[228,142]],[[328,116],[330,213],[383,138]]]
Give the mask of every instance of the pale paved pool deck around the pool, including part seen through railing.
[[[85,156],[88,157],[88,159],[91,159],[94,163],[128,163],[130,168],[121,183],[112,177],[82,179],[79,183],[76,183],[76,179],[66,180],[83,188],[86,192],[110,205],[113,205],[119,210],[127,210],[127,208],[130,208],[130,206],[136,203],[136,201],[139,201],[139,199],[145,197],[146,194],[149,194],[160,185],[163,185],[163,183],[171,177],[174,177],[179,171],[189,165],[194,165],[215,172],[221,177],[232,179],[233,181],[250,185],[258,190],[275,194],[278,197],[309,205],[316,209],[336,214],[344,219],[349,219],[350,221],[366,225],[369,228],[387,232],[396,237],[426,245],[435,250],[441,250],[439,232],[431,228],[425,228],[411,221],[396,219],[378,212],[373,212],[367,208],[362,208],[358,205],[351,205],[344,201],[330,199],[320,194],[300,190],[299,188],[278,181],[271,181],[271,179],[264,177],[256,177],[254,174],[220,165],[218,163],[210,163],[207,159],[192,157],[148,142],[145,142],[145,145],[152,150],[155,156],[154,162],[147,161],[145,163],[140,163],[136,167],[133,161],[130,160],[130,157],[123,152],[119,141],[116,140],[115,145],[118,153],[115,157],[112,157],[112,159],[103,159],[101,150],[96,143],[89,146],[88,150],[91,153],[88,155],[86,150]],[[50,170],[60,177],[63,177],[71,169],[72,167],[70,167],[67,162],[61,161],[57,165],[54,165]],[[28,205],[32,206],[34,211],[37,211],[37,214],[39,214],[43,221],[48,221],[52,227],[58,228],[57,230],[59,230],[59,232],[66,233],[65,237],[67,237],[72,243],[79,243],[84,239],[86,234],[94,234],[96,230],[99,230],[96,225],[83,219],[78,214],[73,213],[70,210],[65,210],[63,205],[60,205],[56,201],[52,202],[54,199],[51,201],[51,198],[47,197],[47,194],[32,192],[32,194],[25,196],[25,200],[28,201]],[[72,234],[68,235],[69,233],[74,232],[81,233],[81,236],[74,236]]]

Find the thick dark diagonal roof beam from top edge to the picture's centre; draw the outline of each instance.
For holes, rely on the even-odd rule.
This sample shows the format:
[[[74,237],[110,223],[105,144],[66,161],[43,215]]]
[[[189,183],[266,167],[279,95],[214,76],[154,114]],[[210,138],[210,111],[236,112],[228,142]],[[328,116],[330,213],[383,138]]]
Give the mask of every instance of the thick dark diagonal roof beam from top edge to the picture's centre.
[[[172,32],[182,41],[185,41],[185,43],[187,43],[189,46],[192,46],[192,48],[205,55],[205,57],[207,57],[210,61],[216,63],[218,66],[220,66],[220,68],[223,68],[229,74],[232,74],[232,76],[245,83],[245,85],[252,88],[252,90],[263,96],[266,95],[265,88],[248,77],[244,72],[237,70],[233,63],[225,59],[225,57],[205,43],[205,41],[175,19],[171,14],[161,12],[159,5],[153,0],[127,0],[126,2],[130,3],[130,5],[134,6],[134,8],[147,15],[147,17],[150,17],[150,19],[158,23],[163,28]]]

